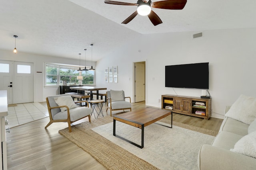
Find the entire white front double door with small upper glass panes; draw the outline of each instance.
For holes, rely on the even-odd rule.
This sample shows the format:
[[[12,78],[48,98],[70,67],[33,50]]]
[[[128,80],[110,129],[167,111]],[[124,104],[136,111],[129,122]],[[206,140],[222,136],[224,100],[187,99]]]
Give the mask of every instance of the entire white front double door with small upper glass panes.
[[[0,60],[0,90],[7,90],[8,104],[34,102],[33,63]]]

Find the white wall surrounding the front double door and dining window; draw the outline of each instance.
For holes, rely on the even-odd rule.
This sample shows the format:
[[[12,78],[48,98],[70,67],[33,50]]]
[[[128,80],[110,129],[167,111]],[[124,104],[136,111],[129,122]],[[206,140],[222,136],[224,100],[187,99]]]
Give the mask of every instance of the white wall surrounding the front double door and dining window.
[[[60,94],[59,86],[44,86],[44,63],[79,64],[79,60],[76,59],[22,53],[20,51],[18,54],[14,54],[12,51],[6,50],[0,50],[0,60],[34,63],[34,102],[43,102],[46,101],[47,96]],[[81,63],[84,62],[81,60]],[[92,62],[92,65],[95,67],[96,63]]]

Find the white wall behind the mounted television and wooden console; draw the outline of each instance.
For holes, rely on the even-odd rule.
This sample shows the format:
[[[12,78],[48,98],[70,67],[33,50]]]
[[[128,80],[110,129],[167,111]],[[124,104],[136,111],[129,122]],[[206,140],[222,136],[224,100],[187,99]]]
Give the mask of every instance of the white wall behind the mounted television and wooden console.
[[[203,37],[193,39],[192,35],[199,32],[203,32]],[[240,94],[256,97],[255,39],[256,28],[141,35],[97,62],[96,84],[124,90],[126,96],[132,97],[133,63],[146,61],[146,105],[161,107],[157,99],[162,94],[202,94],[198,89],[164,87],[164,66],[209,62],[212,117],[223,118],[225,106],[232,105]],[[104,68],[116,65],[118,83],[105,83]],[[195,77],[195,81],[200,79]]]

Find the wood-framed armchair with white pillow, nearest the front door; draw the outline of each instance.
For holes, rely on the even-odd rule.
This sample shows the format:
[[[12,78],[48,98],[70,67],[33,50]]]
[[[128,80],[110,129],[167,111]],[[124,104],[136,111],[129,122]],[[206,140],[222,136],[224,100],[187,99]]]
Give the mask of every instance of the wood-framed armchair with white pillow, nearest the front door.
[[[75,103],[86,102],[87,107],[78,107]],[[84,117],[89,118],[91,122],[90,114],[92,109],[89,108],[87,101],[74,102],[69,94],[60,94],[54,96],[48,96],[46,98],[48,107],[50,122],[45,128],[50,126],[54,122],[67,122],[69,132],[71,132],[71,123],[83,119]]]

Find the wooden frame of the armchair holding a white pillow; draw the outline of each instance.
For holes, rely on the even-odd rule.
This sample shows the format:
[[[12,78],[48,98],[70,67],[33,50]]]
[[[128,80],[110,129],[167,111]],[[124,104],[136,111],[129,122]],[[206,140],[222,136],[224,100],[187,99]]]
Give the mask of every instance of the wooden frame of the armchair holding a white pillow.
[[[83,100],[83,101],[78,101],[78,102],[74,102],[74,103],[81,103],[81,102],[86,102],[87,104],[87,107],[89,107],[89,103],[86,101],[86,100]],[[50,117],[50,122],[46,125],[46,127],[44,128],[47,128],[48,126],[50,126],[52,123],[54,122],[67,122],[68,123],[68,130],[69,132],[71,132],[71,123],[74,123],[76,121],[70,121],[70,113],[69,113],[69,108],[68,106],[56,106],[56,107],[50,107],[50,104],[49,104],[49,100],[48,98],[46,98],[46,103],[47,103],[47,107],[48,107],[48,112],[49,112],[49,117]],[[60,108],[60,107],[66,107],[67,108],[67,113],[68,113],[68,118],[67,119],[60,119],[60,120],[53,120],[52,119],[52,113],[51,113],[51,109],[55,109],[55,108]],[[91,116],[90,115],[87,115],[88,118],[89,118],[89,122],[91,122]],[[87,117],[85,116],[85,117]],[[81,119],[84,119],[85,117],[82,117]]]

